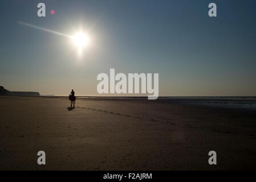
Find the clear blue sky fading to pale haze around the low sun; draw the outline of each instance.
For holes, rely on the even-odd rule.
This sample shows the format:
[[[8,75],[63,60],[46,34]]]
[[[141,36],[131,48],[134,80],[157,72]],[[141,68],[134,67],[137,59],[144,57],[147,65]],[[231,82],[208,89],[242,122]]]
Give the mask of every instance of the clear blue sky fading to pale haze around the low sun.
[[[256,95],[256,1],[44,0],[44,18],[39,2],[1,1],[0,85],[9,90],[95,96],[96,76],[115,68],[159,73],[161,96]],[[83,27],[91,45],[79,57],[67,38],[19,21],[68,35]]]

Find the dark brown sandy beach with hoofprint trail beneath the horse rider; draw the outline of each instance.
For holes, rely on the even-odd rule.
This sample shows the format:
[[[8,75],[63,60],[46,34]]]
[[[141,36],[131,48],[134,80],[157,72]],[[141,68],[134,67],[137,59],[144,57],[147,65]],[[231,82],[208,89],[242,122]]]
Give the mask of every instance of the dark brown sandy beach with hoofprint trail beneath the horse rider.
[[[67,98],[0,101],[0,169],[256,169],[253,111],[145,99],[88,98],[73,110]]]

